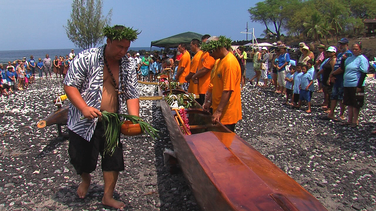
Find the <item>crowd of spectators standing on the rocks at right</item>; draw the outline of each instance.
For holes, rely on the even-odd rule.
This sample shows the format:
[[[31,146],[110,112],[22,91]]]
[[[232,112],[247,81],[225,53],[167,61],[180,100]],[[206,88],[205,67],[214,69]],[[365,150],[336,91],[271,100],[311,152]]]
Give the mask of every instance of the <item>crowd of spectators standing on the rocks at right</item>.
[[[365,77],[368,71],[368,60],[362,55],[361,42],[349,45],[347,38],[338,41],[337,46],[317,46],[318,54],[315,58],[311,46],[304,42],[299,43],[298,57],[290,58],[287,47],[282,42],[277,42],[278,49],[272,59],[269,70],[272,80],[264,81],[264,87],[268,81],[274,87],[274,92],[279,97],[286,98],[285,104],[292,108],[300,108],[302,102],[306,102],[305,112],[311,113],[312,94],[318,95],[323,100],[320,110],[327,113],[323,119],[341,122],[341,125],[349,127],[358,126],[359,110],[364,104]],[[260,63],[267,57],[267,50],[259,49],[253,57],[253,68],[258,78],[263,67]],[[265,56],[264,56],[265,55]],[[264,76],[263,76],[264,77]],[[314,85],[317,80],[317,86]],[[323,93],[323,95],[320,95]],[[339,104],[339,115],[335,116],[335,110]],[[345,108],[347,107],[347,121],[345,121]]]

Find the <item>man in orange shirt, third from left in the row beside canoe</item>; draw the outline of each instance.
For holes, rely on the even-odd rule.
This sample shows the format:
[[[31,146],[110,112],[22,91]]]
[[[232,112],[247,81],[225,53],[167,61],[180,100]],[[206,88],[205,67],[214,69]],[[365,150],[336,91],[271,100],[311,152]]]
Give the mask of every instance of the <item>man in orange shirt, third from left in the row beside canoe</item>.
[[[204,35],[201,42],[204,44],[210,35]],[[205,94],[208,90],[210,83],[210,72],[214,66],[215,60],[209,56],[208,52],[203,52],[197,66],[196,73],[192,76],[193,83],[197,84],[197,91],[199,92],[200,99],[197,100],[201,105],[205,101]]]

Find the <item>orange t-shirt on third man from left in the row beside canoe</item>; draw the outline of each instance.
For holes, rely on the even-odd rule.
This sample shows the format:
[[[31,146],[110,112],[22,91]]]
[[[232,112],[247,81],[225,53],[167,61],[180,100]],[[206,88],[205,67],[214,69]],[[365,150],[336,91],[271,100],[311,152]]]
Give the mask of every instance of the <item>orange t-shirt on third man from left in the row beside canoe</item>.
[[[214,58],[211,57],[208,52],[205,52],[201,55],[199,66],[197,66],[197,69],[205,67],[212,70],[214,62]],[[197,84],[199,94],[206,94],[206,91],[208,90],[210,83],[210,72],[211,71],[207,72],[203,77],[199,78],[199,84]]]

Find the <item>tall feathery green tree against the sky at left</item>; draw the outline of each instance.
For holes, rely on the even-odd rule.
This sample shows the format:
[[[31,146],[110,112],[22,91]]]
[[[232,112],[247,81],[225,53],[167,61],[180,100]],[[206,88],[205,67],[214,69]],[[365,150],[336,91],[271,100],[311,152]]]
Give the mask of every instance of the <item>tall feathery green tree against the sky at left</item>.
[[[102,7],[102,0],[73,0],[71,18],[64,28],[76,47],[93,48],[103,41],[102,29],[111,23],[112,9],[104,17]]]

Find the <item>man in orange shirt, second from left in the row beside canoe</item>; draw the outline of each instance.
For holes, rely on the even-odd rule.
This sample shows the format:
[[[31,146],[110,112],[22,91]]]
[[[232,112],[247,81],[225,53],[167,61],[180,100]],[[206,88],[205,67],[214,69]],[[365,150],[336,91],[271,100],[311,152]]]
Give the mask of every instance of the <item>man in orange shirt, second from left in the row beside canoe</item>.
[[[200,41],[198,39],[192,39],[191,51],[195,54],[194,54],[193,59],[191,60],[190,72],[185,77],[185,80],[190,82],[188,86],[188,92],[199,95],[199,92],[197,90],[197,84],[193,83],[192,81],[192,76],[196,73],[197,66],[199,65],[199,61],[200,61],[201,54],[202,54],[202,51],[200,50]],[[202,105],[203,102],[199,102],[199,103]]]

